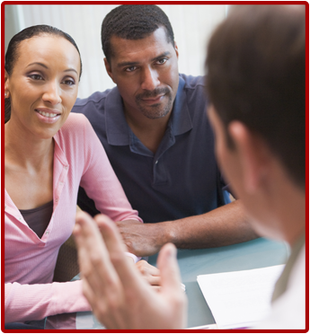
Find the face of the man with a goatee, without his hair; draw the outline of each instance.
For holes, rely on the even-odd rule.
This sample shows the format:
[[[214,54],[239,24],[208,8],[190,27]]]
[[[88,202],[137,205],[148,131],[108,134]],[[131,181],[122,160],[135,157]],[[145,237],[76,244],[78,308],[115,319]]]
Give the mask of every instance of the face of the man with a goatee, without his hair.
[[[179,85],[178,49],[167,41],[164,28],[142,40],[111,38],[108,74],[118,85],[125,111],[132,116],[160,119],[173,109]]]

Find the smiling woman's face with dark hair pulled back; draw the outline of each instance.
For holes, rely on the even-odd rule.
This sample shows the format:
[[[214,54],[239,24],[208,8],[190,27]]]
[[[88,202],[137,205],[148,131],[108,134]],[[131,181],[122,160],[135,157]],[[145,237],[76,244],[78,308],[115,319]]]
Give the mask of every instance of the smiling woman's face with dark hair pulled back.
[[[17,130],[48,139],[65,123],[75,104],[80,57],[66,39],[40,35],[22,40],[5,92]]]

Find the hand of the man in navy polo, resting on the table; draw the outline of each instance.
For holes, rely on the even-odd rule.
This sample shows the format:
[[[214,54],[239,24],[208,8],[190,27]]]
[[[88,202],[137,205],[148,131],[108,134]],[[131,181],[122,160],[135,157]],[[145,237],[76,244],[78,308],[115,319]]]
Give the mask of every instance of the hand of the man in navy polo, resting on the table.
[[[164,223],[141,224],[128,221],[116,222],[128,251],[137,256],[151,256],[160,251],[164,239]]]

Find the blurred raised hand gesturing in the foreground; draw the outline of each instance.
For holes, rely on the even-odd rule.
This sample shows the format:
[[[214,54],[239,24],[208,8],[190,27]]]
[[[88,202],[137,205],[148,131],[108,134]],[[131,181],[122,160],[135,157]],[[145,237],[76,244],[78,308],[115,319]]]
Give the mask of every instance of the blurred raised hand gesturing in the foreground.
[[[155,292],[126,259],[126,247],[109,217],[97,215],[93,220],[80,212],[74,234],[84,295],[106,328],[185,328],[187,301],[173,244],[165,245],[159,253],[162,287]]]

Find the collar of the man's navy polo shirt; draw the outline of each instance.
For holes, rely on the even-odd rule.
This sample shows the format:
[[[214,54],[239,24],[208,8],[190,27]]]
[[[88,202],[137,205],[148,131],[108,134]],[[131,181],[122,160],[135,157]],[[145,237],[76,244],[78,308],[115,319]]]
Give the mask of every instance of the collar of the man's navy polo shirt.
[[[173,103],[173,112],[169,120],[173,136],[182,135],[190,131],[192,122],[188,109],[186,94],[183,93],[185,81],[179,76],[178,92]],[[110,145],[130,145],[130,129],[126,121],[123,102],[117,87],[107,95],[105,101],[105,120],[108,143]]]

